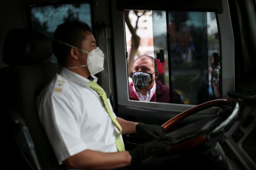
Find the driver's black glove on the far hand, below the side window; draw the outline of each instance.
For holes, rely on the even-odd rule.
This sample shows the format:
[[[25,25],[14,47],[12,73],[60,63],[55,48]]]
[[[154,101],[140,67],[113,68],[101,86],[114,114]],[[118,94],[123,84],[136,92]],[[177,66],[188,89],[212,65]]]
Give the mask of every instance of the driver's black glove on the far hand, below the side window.
[[[151,137],[156,140],[159,140],[159,136],[163,136],[166,134],[165,129],[158,125],[139,123],[136,125],[135,129],[141,135]]]

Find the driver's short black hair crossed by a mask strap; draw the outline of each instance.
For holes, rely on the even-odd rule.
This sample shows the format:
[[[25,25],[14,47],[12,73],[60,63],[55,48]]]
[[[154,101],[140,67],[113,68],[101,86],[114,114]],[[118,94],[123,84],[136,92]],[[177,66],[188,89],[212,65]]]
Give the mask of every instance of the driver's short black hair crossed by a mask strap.
[[[70,21],[60,24],[54,32],[54,39],[81,48],[81,43],[86,39],[84,31],[91,31],[90,26],[82,21]],[[58,41],[52,41],[53,53],[61,66],[67,62],[69,46]]]

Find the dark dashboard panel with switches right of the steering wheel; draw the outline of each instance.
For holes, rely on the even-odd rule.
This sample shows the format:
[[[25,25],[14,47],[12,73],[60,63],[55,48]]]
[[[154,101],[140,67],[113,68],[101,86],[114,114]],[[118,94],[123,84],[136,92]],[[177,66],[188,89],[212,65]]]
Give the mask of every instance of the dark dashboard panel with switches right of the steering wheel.
[[[256,169],[256,106],[246,105],[225,132],[225,154],[241,169]]]

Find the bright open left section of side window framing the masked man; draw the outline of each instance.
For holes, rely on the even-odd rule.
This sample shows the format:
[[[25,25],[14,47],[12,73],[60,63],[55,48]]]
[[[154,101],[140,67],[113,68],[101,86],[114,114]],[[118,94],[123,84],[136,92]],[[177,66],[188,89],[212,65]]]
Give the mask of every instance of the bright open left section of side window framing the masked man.
[[[129,98],[156,102],[152,11],[125,10],[124,17]]]

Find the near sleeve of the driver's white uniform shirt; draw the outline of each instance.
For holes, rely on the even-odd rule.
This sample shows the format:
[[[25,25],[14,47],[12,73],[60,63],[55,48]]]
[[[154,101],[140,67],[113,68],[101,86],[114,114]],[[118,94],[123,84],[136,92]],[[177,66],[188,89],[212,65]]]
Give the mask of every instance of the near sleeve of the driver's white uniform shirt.
[[[43,101],[40,119],[59,163],[87,149],[81,139],[79,114],[73,100],[65,93],[53,92]]]

